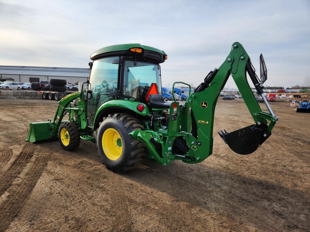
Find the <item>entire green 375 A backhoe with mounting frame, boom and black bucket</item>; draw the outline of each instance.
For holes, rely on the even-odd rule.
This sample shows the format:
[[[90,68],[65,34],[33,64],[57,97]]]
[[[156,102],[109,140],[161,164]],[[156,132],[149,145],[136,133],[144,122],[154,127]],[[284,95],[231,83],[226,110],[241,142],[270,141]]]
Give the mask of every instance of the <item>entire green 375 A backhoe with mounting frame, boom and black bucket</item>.
[[[246,79],[246,73],[257,92],[262,95],[269,112],[260,109]],[[264,97],[262,83],[255,75],[248,54],[242,45],[236,42],[219,69],[211,71],[183,105],[172,102],[167,131],[157,133],[137,130],[130,133],[135,139],[144,142],[148,149],[147,158],[168,165],[172,160],[198,163],[210,156],[213,152],[215,106],[230,75],[242,94],[254,124],[231,133],[224,130],[219,135],[234,152],[243,155],[253,153],[271,135],[278,118],[274,116]],[[175,82],[172,88],[176,83],[178,82]],[[242,121],[242,118],[240,120]]]

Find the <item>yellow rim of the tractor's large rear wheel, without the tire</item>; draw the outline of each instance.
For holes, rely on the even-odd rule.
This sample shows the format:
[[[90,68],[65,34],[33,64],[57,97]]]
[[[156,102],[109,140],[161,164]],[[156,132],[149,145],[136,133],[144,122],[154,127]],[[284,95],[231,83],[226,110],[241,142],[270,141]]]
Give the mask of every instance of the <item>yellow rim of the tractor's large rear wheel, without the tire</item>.
[[[117,160],[123,150],[121,136],[113,128],[108,128],[102,135],[102,149],[110,160]]]

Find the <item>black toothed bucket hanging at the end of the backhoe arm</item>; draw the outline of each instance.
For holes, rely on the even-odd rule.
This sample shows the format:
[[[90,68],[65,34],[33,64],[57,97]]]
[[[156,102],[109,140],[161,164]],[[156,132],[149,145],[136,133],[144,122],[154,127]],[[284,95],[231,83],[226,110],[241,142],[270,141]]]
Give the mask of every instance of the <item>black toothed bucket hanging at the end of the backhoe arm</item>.
[[[255,150],[270,136],[257,124],[244,127],[237,131],[227,132],[226,130],[218,132],[224,142],[230,149],[241,155],[248,155]]]

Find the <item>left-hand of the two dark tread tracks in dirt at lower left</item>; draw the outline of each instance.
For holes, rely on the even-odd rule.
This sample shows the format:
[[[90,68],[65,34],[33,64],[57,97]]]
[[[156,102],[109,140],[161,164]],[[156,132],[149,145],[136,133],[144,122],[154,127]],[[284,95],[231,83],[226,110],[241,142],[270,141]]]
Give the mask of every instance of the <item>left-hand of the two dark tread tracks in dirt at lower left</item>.
[[[0,195],[2,195],[13,183],[15,178],[27,165],[30,158],[33,156],[35,146],[27,143],[11,166],[5,172],[0,173]]]

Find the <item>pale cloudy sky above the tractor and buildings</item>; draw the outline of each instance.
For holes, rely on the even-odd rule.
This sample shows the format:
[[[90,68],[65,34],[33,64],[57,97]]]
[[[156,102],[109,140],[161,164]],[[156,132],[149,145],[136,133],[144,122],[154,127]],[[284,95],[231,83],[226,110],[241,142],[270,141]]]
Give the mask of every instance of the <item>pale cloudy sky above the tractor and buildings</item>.
[[[140,43],[168,55],[162,86],[196,87],[238,41],[258,71],[263,54],[265,86],[286,88],[310,75],[309,25],[309,0],[0,0],[0,65],[88,68],[97,49]]]

